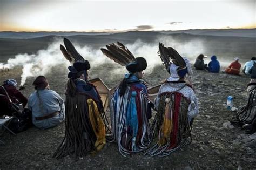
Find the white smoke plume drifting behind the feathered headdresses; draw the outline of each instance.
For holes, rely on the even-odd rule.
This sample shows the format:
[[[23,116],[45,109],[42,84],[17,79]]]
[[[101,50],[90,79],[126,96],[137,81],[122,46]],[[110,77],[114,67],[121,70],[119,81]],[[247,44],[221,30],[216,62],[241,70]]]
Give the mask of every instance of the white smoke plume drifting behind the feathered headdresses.
[[[155,65],[161,64],[160,57],[157,54],[159,42],[164,43],[165,46],[173,47],[181,56],[189,58],[191,62],[194,62],[194,59],[204,51],[204,44],[200,41],[197,42],[193,40],[193,42],[188,41],[186,43],[179,43],[176,40],[173,40],[171,36],[159,37],[155,42],[151,43],[146,43],[138,39],[134,43],[124,45],[128,47],[135,57],[146,58],[148,67],[145,71],[150,73]],[[60,52],[59,44],[63,44],[62,39],[55,39],[54,42],[49,44],[47,49],[38,50],[32,55],[28,55],[27,53],[18,54],[15,58],[10,58],[7,64],[0,63],[0,66],[8,67],[10,69],[15,66],[22,66],[21,85],[24,85],[28,77],[45,75],[51,72],[52,69],[56,69],[56,66],[59,64],[62,64],[65,67],[70,65],[70,63],[63,57],[62,52]],[[112,60],[105,57],[100,49],[93,49],[86,45],[80,46],[76,43],[73,45],[75,45],[80,55],[89,60],[92,69],[103,63],[114,63]],[[125,68],[118,67],[118,71],[116,69],[115,71],[108,71],[110,71],[111,74],[125,73]]]

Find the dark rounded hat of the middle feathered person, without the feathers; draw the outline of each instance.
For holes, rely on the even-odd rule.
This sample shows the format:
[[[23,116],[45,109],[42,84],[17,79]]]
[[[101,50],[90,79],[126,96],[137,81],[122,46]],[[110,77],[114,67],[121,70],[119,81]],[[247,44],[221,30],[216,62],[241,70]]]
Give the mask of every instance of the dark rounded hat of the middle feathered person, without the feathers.
[[[143,57],[137,57],[133,62],[127,64],[126,69],[131,72],[140,72],[147,68],[147,61]]]

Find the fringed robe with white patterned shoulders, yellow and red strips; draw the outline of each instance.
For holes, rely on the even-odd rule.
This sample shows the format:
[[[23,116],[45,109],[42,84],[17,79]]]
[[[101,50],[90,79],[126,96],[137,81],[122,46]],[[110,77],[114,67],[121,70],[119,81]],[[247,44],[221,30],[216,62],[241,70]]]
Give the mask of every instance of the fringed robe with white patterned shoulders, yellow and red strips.
[[[165,156],[190,143],[190,121],[198,114],[198,101],[185,83],[161,85],[155,100],[157,114],[152,125],[152,142],[146,156]]]

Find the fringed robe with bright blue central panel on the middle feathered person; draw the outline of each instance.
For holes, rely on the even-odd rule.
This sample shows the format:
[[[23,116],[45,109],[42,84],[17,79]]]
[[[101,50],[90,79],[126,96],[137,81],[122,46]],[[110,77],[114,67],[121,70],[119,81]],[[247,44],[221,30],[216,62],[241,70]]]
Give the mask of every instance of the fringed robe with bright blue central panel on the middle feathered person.
[[[140,80],[130,81],[123,96],[118,88],[111,99],[112,141],[119,152],[126,156],[142,152],[150,143],[151,108],[147,88]]]

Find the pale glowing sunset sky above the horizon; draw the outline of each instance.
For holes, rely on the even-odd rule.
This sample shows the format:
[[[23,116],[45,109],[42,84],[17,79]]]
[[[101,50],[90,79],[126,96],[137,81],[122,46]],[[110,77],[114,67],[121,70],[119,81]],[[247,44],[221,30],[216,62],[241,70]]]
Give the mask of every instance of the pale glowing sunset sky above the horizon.
[[[0,0],[0,31],[256,28],[256,0]]]

